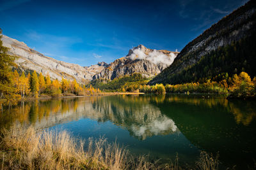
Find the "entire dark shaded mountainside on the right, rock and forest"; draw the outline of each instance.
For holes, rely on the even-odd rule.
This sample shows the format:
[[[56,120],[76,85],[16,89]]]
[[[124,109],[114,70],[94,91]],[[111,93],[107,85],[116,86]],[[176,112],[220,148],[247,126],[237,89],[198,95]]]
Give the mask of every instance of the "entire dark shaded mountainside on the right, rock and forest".
[[[249,1],[188,43],[150,84],[184,83],[248,72],[255,76],[256,3]]]

